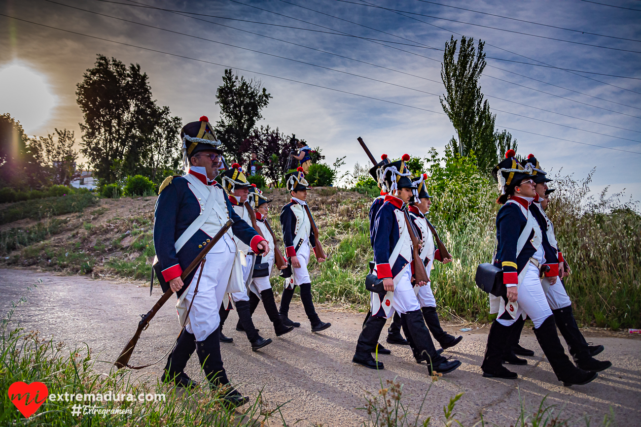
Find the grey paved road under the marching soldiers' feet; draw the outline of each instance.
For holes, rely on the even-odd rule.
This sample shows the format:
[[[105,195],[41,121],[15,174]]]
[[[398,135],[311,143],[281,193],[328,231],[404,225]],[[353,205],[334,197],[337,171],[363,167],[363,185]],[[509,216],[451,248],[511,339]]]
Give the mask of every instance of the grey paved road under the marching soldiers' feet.
[[[28,291],[26,288],[38,278],[44,283]],[[154,289],[154,298],[150,298],[148,287],[135,284],[26,270],[0,270],[0,292],[4,297],[0,301],[3,312],[10,309],[12,300],[17,301],[22,295],[28,297],[28,302],[15,311],[14,319],[22,326],[40,330],[44,336],[53,335],[56,341],[67,345],[87,342],[99,360],[115,360],[133,334],[138,314],[147,312],[160,296],[160,290]],[[356,408],[363,406],[365,391],[378,391],[380,381],[376,371],[351,362],[363,315],[330,309],[319,311],[320,317],[333,325],[328,330],[312,334],[302,307],[297,306],[292,309],[292,319],[301,321],[303,326],[276,338],[265,311],[259,307],[255,323],[263,336],[271,337],[274,343],[258,352],[251,351],[244,334],[234,330],[237,316],[232,313],[225,332],[235,342],[222,344],[225,367],[229,378],[240,383],[242,391],[255,395],[264,387],[270,405],[290,401],[283,408],[288,424],[304,419],[301,425],[358,426],[365,413]],[[453,326],[445,329],[457,332]],[[144,363],[160,357],[178,331],[175,311],[167,304],[143,333],[132,362]],[[592,415],[592,424],[599,425],[612,407],[619,424],[641,425],[640,337],[588,335],[588,341],[606,346],[601,357],[612,360],[614,366],[601,373],[595,382],[571,388],[556,380],[531,331],[524,331],[522,344],[533,348],[537,356],[528,358],[528,366],[511,368],[519,373],[517,381],[481,377],[479,365],[487,329],[465,332],[464,337],[456,351],[447,352],[462,360],[462,367],[433,383],[426,400],[423,413],[432,415],[435,425],[440,424],[443,405],[459,392],[465,394],[456,406],[456,413],[465,426],[476,423],[481,414],[486,422],[509,426],[519,413],[519,396],[531,413],[546,394],[550,404],[565,405],[562,417],[573,416],[579,424],[583,415]],[[408,347],[390,348],[393,354],[381,357],[386,367],[381,371],[381,379],[385,382],[397,378],[404,383],[404,403],[415,410],[430,383],[426,367],[413,362]],[[159,375],[162,366],[148,368],[147,373]],[[97,369],[108,371],[109,366],[97,364]],[[203,378],[194,358],[187,372]]]

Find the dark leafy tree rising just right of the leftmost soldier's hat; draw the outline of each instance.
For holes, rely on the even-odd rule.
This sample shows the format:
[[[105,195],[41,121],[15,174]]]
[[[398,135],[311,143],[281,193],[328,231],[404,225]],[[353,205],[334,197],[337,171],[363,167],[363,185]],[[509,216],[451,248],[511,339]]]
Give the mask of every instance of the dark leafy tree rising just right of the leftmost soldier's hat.
[[[241,146],[256,122],[263,118],[260,111],[269,104],[272,97],[260,81],[247,81],[226,69],[222,85],[216,92],[216,104],[221,106],[221,120],[216,123],[216,135],[222,141],[228,159],[242,161]],[[228,162],[229,163],[229,162]]]

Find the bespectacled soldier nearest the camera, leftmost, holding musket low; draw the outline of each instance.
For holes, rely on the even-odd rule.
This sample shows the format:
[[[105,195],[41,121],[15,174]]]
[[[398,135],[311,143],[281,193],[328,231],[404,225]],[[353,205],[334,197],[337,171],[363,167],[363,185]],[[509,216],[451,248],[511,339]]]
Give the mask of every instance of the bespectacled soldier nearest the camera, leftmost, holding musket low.
[[[237,243],[240,241],[263,255],[269,254],[269,245],[240,220],[221,185],[213,180],[220,167],[221,141],[216,140],[208,119],[203,116],[198,122],[188,123],[180,136],[186,173],[163,181],[154,213],[154,248],[158,257],[154,269],[163,288],[171,287],[176,292],[179,322],[185,326],[169,355],[162,380],[178,387],[194,385],[183,369],[196,350],[210,385],[228,387],[226,404],[243,405],[248,399],[229,386],[222,364],[218,307],[228,286]],[[196,280],[192,279],[198,269],[183,282],[180,278],[183,268],[229,218],[234,224],[210,251],[194,298]],[[186,307],[191,307],[188,316]]]

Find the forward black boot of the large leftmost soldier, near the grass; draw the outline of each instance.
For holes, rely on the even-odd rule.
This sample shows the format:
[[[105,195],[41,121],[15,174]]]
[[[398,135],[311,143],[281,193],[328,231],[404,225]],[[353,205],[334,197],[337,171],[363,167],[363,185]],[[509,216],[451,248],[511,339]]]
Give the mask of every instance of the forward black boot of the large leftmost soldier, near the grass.
[[[210,383],[210,387],[217,389],[218,387],[227,386],[229,388],[223,398],[228,407],[244,405],[249,399],[229,385],[227,373],[222,366],[219,334],[220,329],[216,328],[203,341],[196,341],[198,361],[203,368],[205,378]]]

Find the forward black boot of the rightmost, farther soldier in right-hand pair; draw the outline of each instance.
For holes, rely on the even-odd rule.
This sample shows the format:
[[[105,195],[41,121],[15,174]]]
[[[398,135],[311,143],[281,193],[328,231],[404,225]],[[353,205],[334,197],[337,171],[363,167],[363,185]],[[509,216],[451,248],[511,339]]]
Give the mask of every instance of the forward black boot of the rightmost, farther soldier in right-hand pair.
[[[574,314],[572,314],[572,305],[563,307],[562,309],[552,310],[554,314],[554,322],[561,331],[563,339],[567,342],[570,350],[570,355],[574,358],[576,366],[585,371],[603,371],[612,366],[609,360],[597,360],[590,355],[590,347],[585,341],[585,337],[579,330],[579,325],[576,324]]]

